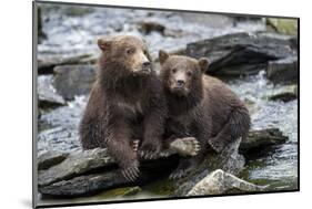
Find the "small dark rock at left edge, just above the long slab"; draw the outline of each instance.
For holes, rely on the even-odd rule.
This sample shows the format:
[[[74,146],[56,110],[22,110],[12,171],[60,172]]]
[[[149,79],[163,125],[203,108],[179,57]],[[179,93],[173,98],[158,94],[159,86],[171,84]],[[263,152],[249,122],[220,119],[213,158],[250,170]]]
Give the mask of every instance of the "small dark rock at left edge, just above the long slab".
[[[46,151],[38,157],[38,169],[48,169],[54,165],[60,164],[69,156],[68,153]]]

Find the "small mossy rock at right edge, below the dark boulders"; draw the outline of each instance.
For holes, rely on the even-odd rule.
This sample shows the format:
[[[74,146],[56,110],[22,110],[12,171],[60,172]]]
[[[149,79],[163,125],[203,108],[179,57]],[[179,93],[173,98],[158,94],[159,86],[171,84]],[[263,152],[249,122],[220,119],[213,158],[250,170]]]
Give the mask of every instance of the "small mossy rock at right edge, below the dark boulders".
[[[269,97],[271,101],[290,102],[298,98],[298,85],[285,86]]]

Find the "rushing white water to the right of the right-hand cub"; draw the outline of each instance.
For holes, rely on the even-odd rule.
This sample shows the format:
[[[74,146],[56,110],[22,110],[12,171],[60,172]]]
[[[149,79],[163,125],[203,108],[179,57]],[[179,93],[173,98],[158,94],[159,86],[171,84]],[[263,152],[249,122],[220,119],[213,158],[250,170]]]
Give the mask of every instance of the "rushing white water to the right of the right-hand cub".
[[[289,137],[284,145],[278,145],[266,157],[250,160],[243,176],[258,184],[270,184],[272,189],[298,187],[298,100],[284,103],[268,97],[283,88],[273,85],[261,71],[255,76],[235,80],[230,87],[248,104],[252,128],[275,127]]]

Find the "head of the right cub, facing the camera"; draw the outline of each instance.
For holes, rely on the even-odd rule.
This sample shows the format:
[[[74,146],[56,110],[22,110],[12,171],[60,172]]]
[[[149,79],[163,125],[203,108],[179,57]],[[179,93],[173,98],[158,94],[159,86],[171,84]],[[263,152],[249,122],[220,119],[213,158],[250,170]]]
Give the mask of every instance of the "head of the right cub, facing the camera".
[[[199,60],[182,56],[169,55],[165,51],[159,51],[161,64],[161,77],[164,88],[179,96],[201,92],[202,75],[208,69],[209,60]]]

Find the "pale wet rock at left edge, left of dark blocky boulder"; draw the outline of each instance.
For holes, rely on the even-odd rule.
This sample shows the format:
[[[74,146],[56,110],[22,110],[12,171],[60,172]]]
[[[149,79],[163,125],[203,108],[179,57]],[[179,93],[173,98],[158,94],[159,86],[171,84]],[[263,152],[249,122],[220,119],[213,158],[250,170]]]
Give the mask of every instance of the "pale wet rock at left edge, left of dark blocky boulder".
[[[51,75],[38,77],[38,100],[40,108],[58,107],[66,104],[63,97],[57,93]]]

